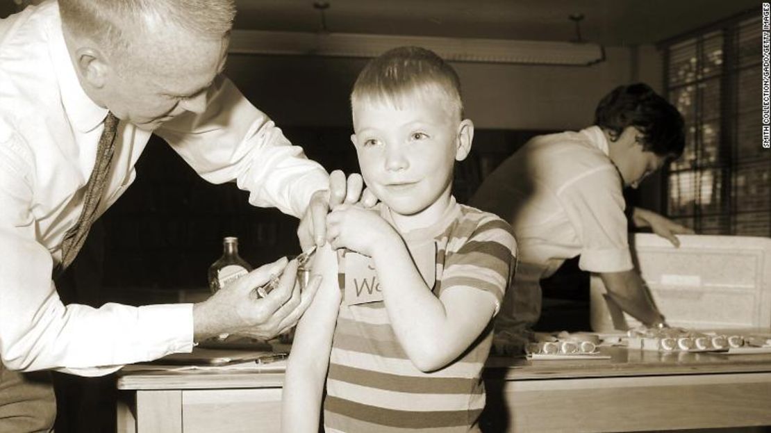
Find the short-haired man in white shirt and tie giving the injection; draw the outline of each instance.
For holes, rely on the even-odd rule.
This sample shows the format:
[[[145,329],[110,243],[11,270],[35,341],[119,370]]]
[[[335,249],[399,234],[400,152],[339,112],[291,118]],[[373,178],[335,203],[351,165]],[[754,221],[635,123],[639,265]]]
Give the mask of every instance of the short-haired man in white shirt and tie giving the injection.
[[[0,431],[47,430],[56,412],[51,388],[16,370],[107,374],[220,333],[272,337],[308,306],[318,281],[300,293],[286,259],[194,305],[93,309],[56,293],[150,134],[207,181],[303,216],[303,245],[324,242],[327,173],[221,74],[234,13],[233,0],[61,0],[0,21]]]

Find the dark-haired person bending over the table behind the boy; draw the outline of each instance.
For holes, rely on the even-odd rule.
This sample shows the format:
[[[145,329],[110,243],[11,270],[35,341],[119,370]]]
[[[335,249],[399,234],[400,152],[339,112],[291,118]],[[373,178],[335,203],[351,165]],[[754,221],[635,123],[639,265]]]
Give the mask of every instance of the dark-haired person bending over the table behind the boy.
[[[540,279],[578,255],[579,268],[596,272],[608,296],[647,326],[666,326],[634,269],[627,238],[623,188],[682,154],[682,115],[643,83],[618,86],[595,111],[594,126],[534,137],[484,181],[470,205],[514,228],[520,262],[497,317],[499,350],[521,350],[540,317]],[[662,215],[632,211],[638,227],[679,245],[692,233]]]

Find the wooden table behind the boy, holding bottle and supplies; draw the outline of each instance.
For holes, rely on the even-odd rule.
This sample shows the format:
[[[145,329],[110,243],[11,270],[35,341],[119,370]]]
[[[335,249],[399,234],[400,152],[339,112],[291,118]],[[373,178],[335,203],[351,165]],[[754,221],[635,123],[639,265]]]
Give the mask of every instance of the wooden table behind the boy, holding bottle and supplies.
[[[610,360],[491,357],[483,431],[631,431],[771,425],[771,354]],[[123,369],[118,431],[279,431],[282,373]]]

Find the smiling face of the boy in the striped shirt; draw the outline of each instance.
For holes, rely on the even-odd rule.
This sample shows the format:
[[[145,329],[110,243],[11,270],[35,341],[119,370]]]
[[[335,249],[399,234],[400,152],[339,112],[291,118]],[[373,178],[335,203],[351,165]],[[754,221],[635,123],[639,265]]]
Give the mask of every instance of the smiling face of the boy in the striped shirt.
[[[473,131],[473,124],[456,120],[439,96],[412,92],[399,102],[400,107],[390,100],[354,103],[351,140],[362,177],[396,214],[395,220],[410,216],[411,222],[426,226],[449,203],[453,164],[462,161],[470,147],[470,137],[461,137]]]

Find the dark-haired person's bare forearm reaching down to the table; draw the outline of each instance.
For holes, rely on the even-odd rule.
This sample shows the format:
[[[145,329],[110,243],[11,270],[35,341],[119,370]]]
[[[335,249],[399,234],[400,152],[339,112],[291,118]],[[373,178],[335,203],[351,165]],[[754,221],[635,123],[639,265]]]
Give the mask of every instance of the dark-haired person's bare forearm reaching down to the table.
[[[664,316],[651,300],[645,282],[635,269],[624,272],[604,272],[600,276],[605,289],[608,290],[608,296],[621,307],[621,310],[647,326],[664,323]]]

